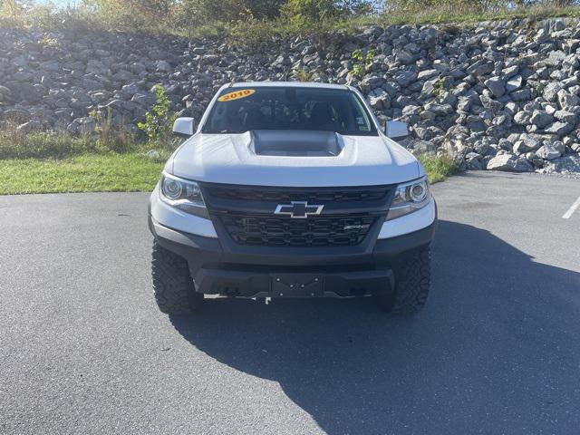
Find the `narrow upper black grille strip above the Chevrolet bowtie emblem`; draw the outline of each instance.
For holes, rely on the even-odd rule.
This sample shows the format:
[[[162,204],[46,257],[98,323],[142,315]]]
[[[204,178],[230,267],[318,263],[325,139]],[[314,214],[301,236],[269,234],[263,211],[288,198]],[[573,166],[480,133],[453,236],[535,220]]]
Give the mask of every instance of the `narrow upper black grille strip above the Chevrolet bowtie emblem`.
[[[376,201],[387,196],[388,188],[383,186],[371,188],[341,188],[341,189],[280,189],[252,188],[235,186],[206,188],[207,194],[213,198],[237,201],[272,201],[287,203],[290,201],[308,201],[314,204],[349,201]]]

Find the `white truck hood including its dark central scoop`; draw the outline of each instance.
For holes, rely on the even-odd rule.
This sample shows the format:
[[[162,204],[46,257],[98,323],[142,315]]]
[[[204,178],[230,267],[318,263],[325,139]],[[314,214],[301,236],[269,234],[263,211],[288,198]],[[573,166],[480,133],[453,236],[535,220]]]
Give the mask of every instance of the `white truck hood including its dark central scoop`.
[[[302,148],[294,147],[299,142]],[[393,140],[323,131],[197,133],[165,170],[196,181],[285,187],[376,186],[423,175],[417,160]]]

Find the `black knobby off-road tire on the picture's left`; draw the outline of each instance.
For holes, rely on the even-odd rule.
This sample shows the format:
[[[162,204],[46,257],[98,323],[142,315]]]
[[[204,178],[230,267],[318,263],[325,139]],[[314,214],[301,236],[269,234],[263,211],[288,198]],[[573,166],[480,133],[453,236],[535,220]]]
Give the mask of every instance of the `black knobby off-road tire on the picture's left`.
[[[188,262],[153,242],[151,275],[155,301],[165,314],[191,314],[197,310],[203,295],[196,293],[189,275]]]

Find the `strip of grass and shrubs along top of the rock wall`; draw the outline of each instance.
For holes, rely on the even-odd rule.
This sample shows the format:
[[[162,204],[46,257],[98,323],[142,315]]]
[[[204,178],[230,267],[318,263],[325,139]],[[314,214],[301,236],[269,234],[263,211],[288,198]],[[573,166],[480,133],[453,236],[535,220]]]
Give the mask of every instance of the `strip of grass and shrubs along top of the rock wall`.
[[[471,24],[512,18],[530,18],[533,23],[554,16],[578,17],[580,7],[569,0],[389,0],[384,4],[379,0],[80,0],[68,7],[0,0],[3,28],[229,36],[238,45],[258,46],[271,43],[275,36],[295,34],[332,42],[337,30],[357,34],[365,24]]]

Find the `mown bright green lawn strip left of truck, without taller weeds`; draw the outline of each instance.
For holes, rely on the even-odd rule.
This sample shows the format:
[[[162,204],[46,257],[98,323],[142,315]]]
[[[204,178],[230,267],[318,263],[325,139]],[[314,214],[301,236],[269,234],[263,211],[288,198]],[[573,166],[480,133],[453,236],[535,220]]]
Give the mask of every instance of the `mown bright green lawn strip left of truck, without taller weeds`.
[[[163,163],[138,154],[0,160],[0,195],[152,190]]]

